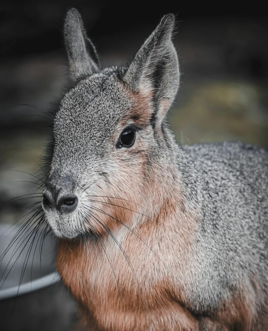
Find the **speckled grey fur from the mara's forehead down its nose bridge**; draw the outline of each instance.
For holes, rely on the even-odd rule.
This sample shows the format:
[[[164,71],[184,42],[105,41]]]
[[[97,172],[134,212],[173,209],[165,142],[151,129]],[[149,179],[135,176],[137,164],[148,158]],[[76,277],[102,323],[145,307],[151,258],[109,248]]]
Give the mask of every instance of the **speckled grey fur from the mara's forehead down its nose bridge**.
[[[114,143],[111,136],[116,125],[129,116],[134,104],[120,75],[121,69],[116,68],[92,74],[62,99],[54,118],[52,172],[77,172],[87,164],[92,166],[94,159],[105,161],[109,146]]]

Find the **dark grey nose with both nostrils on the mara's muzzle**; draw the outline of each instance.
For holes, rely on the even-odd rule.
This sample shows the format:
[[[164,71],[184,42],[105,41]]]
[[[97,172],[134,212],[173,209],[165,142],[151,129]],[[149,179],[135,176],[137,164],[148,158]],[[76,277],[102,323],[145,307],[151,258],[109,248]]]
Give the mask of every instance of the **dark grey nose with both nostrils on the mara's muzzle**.
[[[61,213],[73,212],[78,205],[78,198],[72,192],[62,192],[61,188],[55,187],[46,189],[43,194],[42,207],[44,211],[49,212],[51,209],[56,209]]]

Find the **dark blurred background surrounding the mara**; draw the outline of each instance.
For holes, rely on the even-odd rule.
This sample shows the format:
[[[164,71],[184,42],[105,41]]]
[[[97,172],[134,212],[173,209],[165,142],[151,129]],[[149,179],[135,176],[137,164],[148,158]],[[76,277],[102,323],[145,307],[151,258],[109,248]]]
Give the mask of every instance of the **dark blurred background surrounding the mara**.
[[[168,120],[177,141],[193,144],[240,140],[268,147],[266,16],[253,11],[182,12],[179,4],[167,1],[148,6],[143,3],[142,7],[90,0],[2,1],[0,256],[17,231],[7,231],[9,226],[18,220],[22,210],[40,201],[36,197],[31,202],[14,199],[6,204],[9,199],[40,192],[35,183],[29,183],[36,178],[19,171],[35,174],[42,162],[48,136],[45,113],[61,97],[66,79],[62,27],[71,7],[80,11],[103,67],[130,63],[161,17],[176,14],[174,44],[180,61],[181,87]],[[15,258],[20,250],[21,247]],[[31,293],[14,296],[3,292],[1,296],[1,291],[15,288],[20,281],[26,284],[31,278],[40,279],[54,272],[55,241],[50,239],[45,244],[42,266],[37,251],[35,258],[29,258],[30,266],[22,279],[25,255],[15,263],[5,282],[11,256],[1,263],[0,329],[74,330],[76,304],[55,278]]]

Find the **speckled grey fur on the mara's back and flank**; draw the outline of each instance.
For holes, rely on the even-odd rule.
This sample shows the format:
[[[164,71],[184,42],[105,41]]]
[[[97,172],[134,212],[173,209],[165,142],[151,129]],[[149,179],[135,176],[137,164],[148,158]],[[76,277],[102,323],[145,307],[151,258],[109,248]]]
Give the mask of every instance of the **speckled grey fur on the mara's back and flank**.
[[[177,159],[189,204],[199,210],[199,267],[191,302],[211,310],[223,293],[246,288],[258,300],[253,279],[268,295],[268,154],[242,143],[180,147]],[[210,291],[208,291],[210,289]],[[266,310],[267,313],[267,310]]]

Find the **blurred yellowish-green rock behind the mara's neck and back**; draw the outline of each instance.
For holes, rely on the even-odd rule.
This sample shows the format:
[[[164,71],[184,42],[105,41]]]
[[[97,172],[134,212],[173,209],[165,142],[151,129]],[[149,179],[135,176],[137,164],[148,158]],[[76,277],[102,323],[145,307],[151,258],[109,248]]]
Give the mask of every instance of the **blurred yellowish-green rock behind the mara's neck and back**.
[[[184,89],[171,128],[183,144],[236,141],[268,147],[267,104],[258,84],[246,81],[196,82]]]

